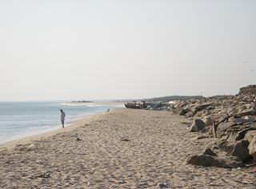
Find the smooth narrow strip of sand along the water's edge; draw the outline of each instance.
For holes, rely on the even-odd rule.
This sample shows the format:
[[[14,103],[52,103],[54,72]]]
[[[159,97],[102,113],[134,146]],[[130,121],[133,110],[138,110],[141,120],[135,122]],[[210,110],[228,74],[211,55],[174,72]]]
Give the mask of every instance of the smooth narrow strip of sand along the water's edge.
[[[5,142],[3,144],[0,144],[0,152],[14,148],[16,145],[29,144],[29,143],[33,142],[34,140],[43,140],[50,136],[54,136],[58,133],[70,132],[70,131],[74,130],[75,128],[82,126],[82,124],[89,124],[90,121],[98,119],[100,116],[103,116],[106,113],[107,112],[94,113],[92,115],[81,117],[78,120],[74,120],[73,122],[66,124],[65,128],[60,127],[60,128],[54,129],[52,131],[42,132],[42,133],[31,135],[31,136],[25,136],[25,137],[22,137],[17,140],[11,140],[11,141]]]

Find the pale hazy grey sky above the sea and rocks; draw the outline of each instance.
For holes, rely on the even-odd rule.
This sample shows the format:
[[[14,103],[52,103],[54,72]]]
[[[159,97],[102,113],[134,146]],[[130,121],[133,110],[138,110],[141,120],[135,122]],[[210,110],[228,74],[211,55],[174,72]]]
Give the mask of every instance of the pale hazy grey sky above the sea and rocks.
[[[0,0],[0,81],[0,101],[238,93],[256,1]]]

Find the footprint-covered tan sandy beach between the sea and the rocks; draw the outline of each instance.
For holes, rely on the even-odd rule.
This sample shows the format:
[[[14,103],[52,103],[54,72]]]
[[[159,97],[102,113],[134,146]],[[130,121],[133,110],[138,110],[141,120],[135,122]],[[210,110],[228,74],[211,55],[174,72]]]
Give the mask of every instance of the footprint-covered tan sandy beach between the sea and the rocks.
[[[0,188],[159,188],[162,182],[169,188],[256,188],[254,168],[187,165],[187,156],[214,143],[198,135],[170,112],[117,109],[90,116],[2,145]]]

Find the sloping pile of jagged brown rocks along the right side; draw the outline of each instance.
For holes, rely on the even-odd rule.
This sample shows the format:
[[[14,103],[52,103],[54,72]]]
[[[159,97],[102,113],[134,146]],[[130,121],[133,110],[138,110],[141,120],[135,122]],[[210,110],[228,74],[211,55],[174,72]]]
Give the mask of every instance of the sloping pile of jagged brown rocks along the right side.
[[[213,138],[214,145],[187,163],[206,167],[248,167],[256,161],[256,85],[240,89],[235,96],[212,96],[178,101],[172,112],[185,116],[198,140]]]

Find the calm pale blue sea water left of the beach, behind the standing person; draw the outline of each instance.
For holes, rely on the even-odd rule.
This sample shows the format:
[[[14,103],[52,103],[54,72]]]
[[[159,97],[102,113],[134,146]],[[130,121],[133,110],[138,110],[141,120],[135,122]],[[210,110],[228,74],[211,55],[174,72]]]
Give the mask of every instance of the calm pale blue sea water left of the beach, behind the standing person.
[[[120,108],[122,104],[65,102],[0,102],[0,144],[22,137],[62,128],[60,109],[66,112],[66,124]]]

